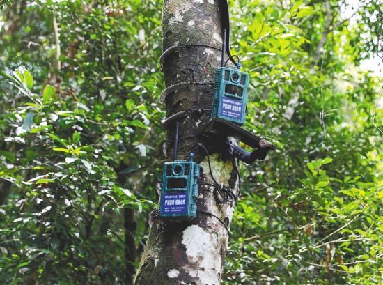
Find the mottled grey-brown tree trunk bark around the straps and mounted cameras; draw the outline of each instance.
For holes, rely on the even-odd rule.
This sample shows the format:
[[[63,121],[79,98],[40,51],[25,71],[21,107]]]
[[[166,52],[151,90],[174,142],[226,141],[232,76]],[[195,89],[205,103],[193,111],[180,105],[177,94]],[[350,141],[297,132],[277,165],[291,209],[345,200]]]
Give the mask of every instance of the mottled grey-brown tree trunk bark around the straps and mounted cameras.
[[[218,0],[165,0],[162,15],[163,43],[166,50],[173,45],[212,45],[221,48],[221,7]],[[179,82],[213,82],[214,68],[220,64],[220,52],[209,47],[178,49],[164,59],[166,86]],[[188,159],[197,143],[210,151],[213,175],[219,183],[237,191],[237,176],[232,162],[217,141],[201,141],[196,127],[201,118],[210,116],[212,84],[194,84],[166,97],[166,114],[171,116],[187,109],[208,109],[189,113],[180,121],[178,159]],[[174,125],[168,126],[166,155],[171,161]],[[196,161],[202,168],[202,180],[212,183],[207,158],[197,152]],[[199,184],[198,210],[212,213],[228,225],[234,203],[219,205],[212,196],[212,187]],[[149,284],[208,284],[218,285],[228,244],[228,231],[212,215],[197,212],[192,222],[171,223],[159,219],[158,212],[150,214],[152,226],[143,252],[136,285]]]

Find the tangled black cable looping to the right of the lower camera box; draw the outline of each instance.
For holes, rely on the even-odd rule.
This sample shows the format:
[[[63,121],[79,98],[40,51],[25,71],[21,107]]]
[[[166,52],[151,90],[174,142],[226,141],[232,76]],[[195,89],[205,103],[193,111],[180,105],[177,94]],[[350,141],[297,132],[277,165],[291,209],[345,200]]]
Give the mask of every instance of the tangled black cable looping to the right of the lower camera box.
[[[234,202],[235,200],[237,200],[240,197],[239,196],[240,190],[238,191],[238,194],[236,195],[236,194],[234,194],[233,190],[230,189],[230,187],[219,184],[217,182],[217,180],[214,178],[213,172],[212,172],[212,166],[210,164],[210,155],[209,155],[208,149],[205,148],[205,146],[198,144],[192,148],[192,152],[196,148],[202,148],[205,151],[206,156],[208,157],[209,172],[210,172],[210,176],[212,177],[212,180],[214,182],[214,185],[212,185],[210,183],[205,183],[205,182],[203,182],[203,183],[205,183],[206,185],[210,185],[210,186],[214,187],[213,197],[214,197],[215,201],[219,204],[226,204],[226,203],[231,203],[231,202]],[[232,158],[233,164],[235,165],[235,171],[237,173],[238,179],[241,181],[240,171],[237,169],[237,165],[235,164],[235,161],[233,161],[233,157],[231,157],[231,158]],[[240,186],[240,184],[239,184],[239,186]]]

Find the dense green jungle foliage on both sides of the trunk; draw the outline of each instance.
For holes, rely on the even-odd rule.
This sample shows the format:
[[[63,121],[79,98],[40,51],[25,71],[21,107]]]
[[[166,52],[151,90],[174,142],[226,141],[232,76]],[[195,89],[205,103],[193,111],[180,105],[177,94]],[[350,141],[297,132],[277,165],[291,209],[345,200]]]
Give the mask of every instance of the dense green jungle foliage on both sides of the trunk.
[[[382,284],[382,1],[228,2],[244,128],[278,150],[240,166],[222,283]],[[0,283],[128,284],[166,161],[162,1],[0,3]]]

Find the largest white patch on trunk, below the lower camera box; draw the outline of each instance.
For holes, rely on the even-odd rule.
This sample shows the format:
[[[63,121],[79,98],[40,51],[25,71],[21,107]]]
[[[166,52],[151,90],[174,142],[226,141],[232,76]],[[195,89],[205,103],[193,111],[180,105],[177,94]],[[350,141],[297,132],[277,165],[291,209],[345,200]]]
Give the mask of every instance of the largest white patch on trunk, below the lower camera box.
[[[221,255],[217,250],[216,235],[207,233],[200,226],[188,226],[183,232],[182,244],[186,247],[187,258],[197,263],[198,268],[189,271],[191,277],[198,277],[201,284],[219,284]]]

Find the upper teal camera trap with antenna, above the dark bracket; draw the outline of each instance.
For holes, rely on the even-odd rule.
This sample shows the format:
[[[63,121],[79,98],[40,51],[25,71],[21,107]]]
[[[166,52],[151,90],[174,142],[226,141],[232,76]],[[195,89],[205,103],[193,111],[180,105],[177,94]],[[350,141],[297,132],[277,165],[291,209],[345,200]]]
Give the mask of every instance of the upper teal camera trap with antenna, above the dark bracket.
[[[244,125],[247,112],[247,86],[249,75],[237,68],[228,68],[224,63],[226,50],[226,29],[222,44],[221,67],[216,68],[214,75],[214,93],[212,101],[212,118],[223,118],[237,125]],[[230,59],[230,58],[229,58]]]

